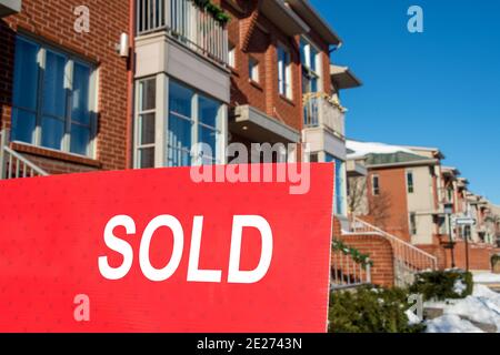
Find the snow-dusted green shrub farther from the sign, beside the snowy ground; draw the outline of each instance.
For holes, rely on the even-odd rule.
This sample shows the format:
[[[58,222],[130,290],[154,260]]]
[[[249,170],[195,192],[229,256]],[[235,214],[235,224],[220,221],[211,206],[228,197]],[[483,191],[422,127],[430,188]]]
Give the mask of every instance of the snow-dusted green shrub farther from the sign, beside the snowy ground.
[[[460,270],[420,273],[410,287],[411,293],[423,295],[424,301],[466,298],[472,291],[472,274]]]

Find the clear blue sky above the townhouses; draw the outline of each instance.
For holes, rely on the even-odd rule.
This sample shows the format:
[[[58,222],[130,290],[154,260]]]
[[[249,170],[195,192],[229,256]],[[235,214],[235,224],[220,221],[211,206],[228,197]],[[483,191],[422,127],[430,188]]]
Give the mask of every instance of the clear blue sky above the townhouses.
[[[363,81],[343,92],[348,135],[437,146],[500,204],[500,1],[310,0],[343,40],[332,54]],[[422,7],[424,32],[407,30]]]

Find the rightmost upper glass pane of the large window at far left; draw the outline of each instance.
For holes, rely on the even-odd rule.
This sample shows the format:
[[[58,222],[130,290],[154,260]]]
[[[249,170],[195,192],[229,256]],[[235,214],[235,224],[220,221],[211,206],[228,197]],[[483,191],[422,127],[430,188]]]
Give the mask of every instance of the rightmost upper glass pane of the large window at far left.
[[[73,92],[71,98],[71,120],[82,124],[90,124],[89,82],[90,68],[74,63]]]

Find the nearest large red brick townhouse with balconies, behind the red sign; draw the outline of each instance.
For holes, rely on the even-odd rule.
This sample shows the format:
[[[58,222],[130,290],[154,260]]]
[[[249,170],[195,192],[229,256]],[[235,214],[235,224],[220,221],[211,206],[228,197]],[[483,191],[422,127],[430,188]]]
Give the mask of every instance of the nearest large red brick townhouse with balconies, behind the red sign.
[[[309,143],[337,163],[347,221],[340,92],[361,82],[331,62],[341,39],[308,1],[81,6],[0,0],[1,178],[186,166],[196,143],[203,163],[234,142],[294,143],[300,161]]]

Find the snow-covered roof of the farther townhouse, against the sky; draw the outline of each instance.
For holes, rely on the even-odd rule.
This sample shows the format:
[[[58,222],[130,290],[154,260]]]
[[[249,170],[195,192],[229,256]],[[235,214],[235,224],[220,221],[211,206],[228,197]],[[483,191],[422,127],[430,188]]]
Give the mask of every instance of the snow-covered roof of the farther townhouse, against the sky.
[[[364,160],[367,166],[387,165],[426,165],[434,164],[437,161],[427,156],[416,154],[413,151],[384,143],[368,143],[348,140],[348,160]]]

